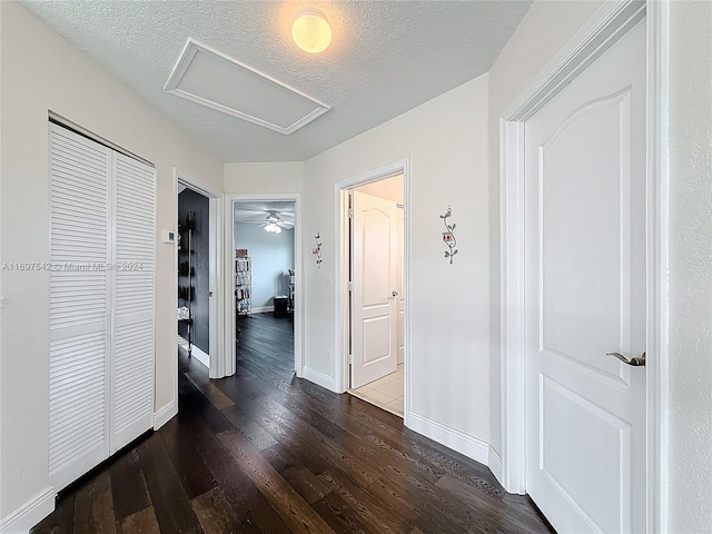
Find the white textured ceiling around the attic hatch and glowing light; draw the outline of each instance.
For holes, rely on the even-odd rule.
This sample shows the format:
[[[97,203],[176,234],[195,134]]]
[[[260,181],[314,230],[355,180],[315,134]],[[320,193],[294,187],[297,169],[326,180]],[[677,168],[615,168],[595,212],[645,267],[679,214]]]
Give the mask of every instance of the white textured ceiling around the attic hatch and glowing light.
[[[531,0],[22,3],[224,161],[303,161],[490,70]],[[334,30],[319,55],[290,38],[305,6]],[[285,136],[166,93],[189,37],[330,111]]]

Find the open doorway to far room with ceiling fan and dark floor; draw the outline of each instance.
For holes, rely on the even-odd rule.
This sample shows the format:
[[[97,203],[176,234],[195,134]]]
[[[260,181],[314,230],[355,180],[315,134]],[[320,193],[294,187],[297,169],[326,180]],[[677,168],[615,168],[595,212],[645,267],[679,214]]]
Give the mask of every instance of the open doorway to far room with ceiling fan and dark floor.
[[[296,303],[295,200],[235,200],[236,365],[294,375]]]

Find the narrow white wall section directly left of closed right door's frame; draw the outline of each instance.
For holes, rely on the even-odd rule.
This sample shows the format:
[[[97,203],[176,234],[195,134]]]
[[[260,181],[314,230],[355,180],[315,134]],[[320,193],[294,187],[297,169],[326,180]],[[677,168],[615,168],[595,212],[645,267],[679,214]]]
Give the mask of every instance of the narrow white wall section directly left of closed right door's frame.
[[[490,285],[492,446],[502,452],[500,366],[500,119],[506,108],[602,6],[535,1],[490,70]]]

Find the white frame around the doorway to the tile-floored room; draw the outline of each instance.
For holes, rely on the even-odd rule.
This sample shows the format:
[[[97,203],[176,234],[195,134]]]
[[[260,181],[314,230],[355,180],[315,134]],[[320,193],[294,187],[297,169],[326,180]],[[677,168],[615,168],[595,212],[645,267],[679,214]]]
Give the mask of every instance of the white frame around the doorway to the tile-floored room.
[[[335,185],[336,201],[336,310],[334,314],[334,332],[336,333],[336,392],[344,393],[348,388],[348,339],[349,339],[349,308],[348,308],[348,263],[349,263],[349,235],[348,235],[348,190],[366,184],[403,175],[404,199],[404,261],[403,261],[403,288],[405,290],[405,325],[404,325],[404,424],[408,425],[411,412],[411,160],[402,159],[378,169],[345,178]]]

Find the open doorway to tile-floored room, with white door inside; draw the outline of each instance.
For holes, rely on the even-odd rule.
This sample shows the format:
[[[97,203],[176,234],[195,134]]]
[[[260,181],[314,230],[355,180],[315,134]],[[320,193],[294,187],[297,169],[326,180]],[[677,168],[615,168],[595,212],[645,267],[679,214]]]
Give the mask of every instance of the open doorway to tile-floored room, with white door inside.
[[[404,416],[404,174],[345,191],[348,393]]]

